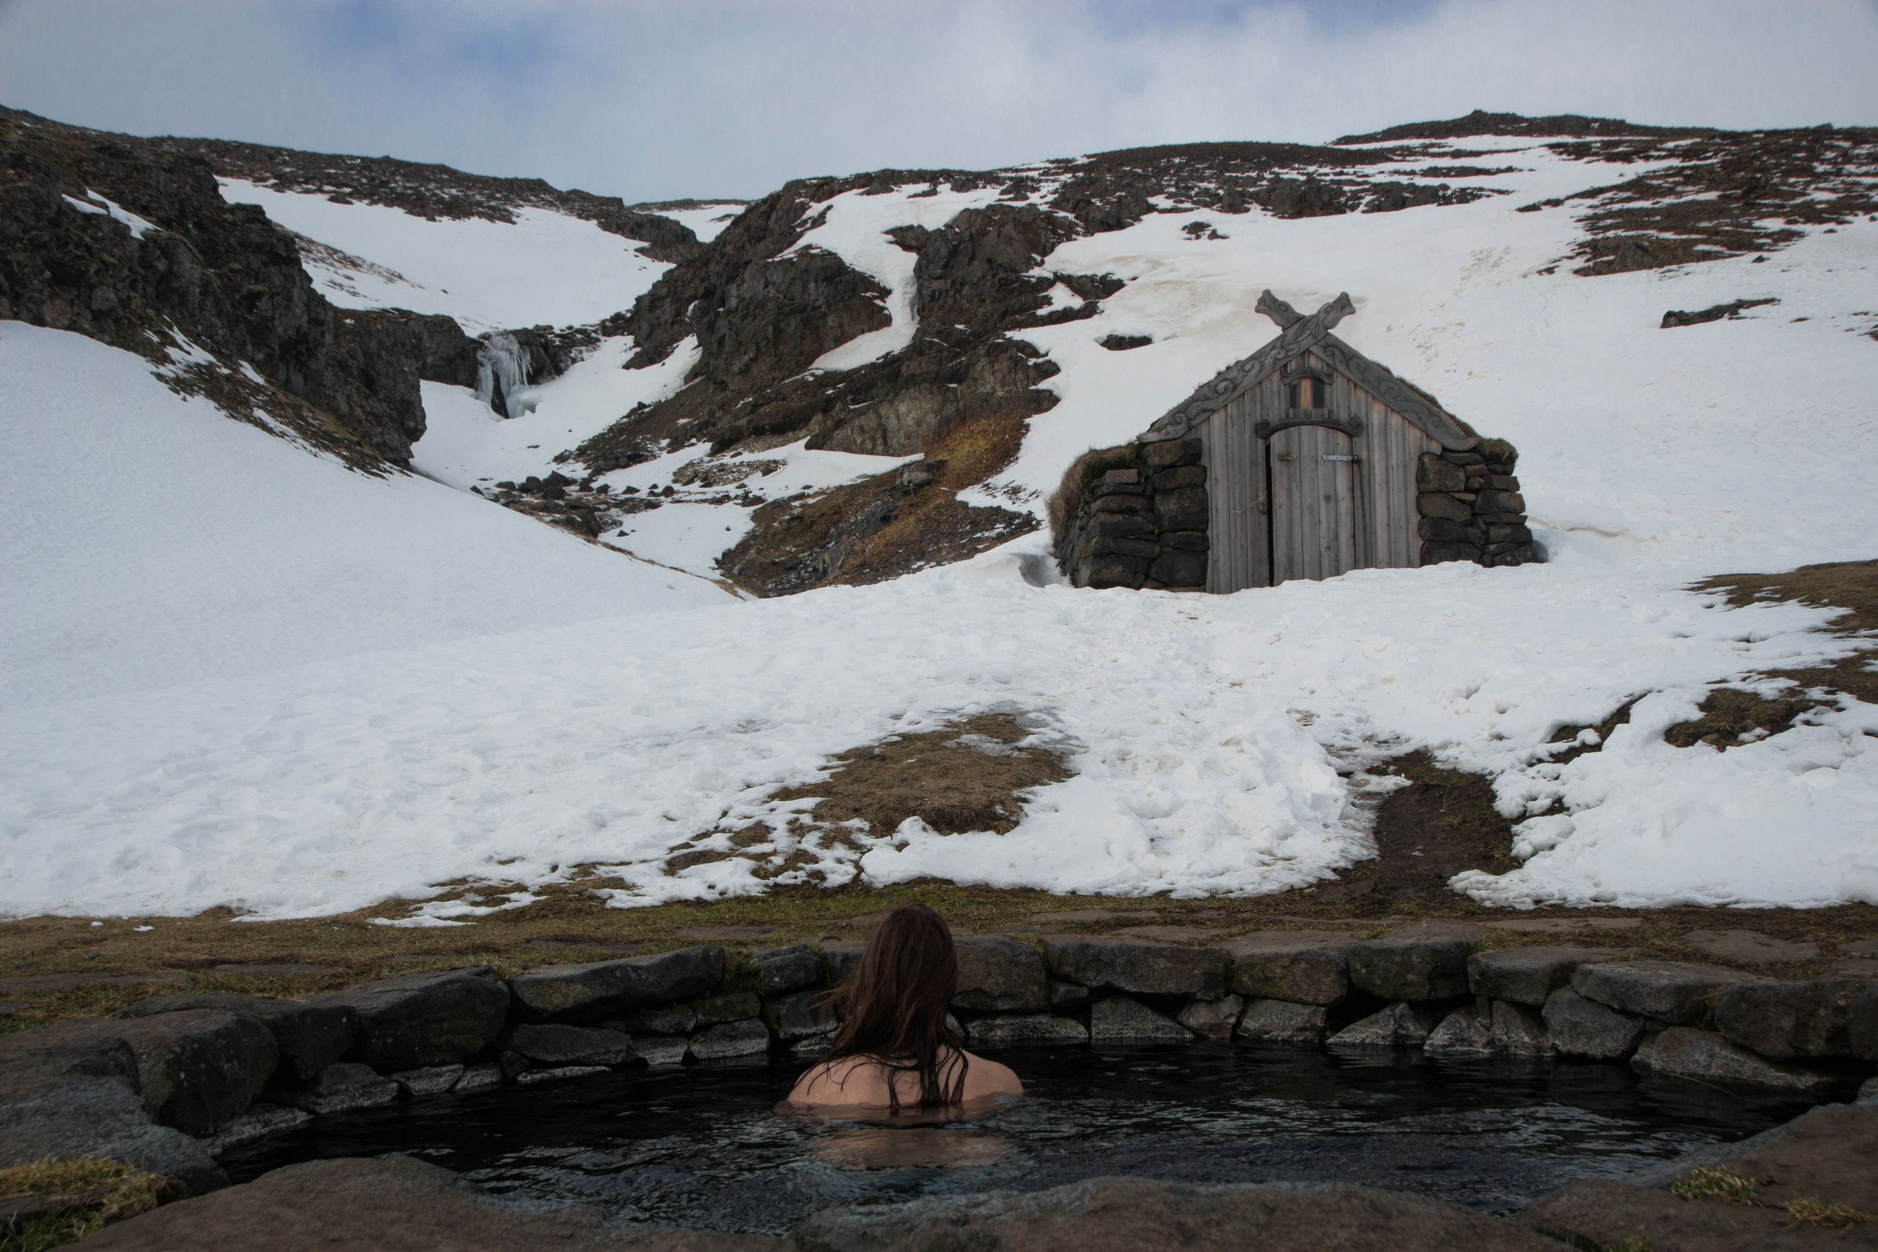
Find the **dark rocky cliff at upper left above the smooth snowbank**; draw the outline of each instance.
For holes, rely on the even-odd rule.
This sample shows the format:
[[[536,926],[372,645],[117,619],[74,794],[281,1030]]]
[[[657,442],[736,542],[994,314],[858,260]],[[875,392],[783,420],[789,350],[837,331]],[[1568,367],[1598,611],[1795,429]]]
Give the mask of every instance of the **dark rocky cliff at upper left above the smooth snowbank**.
[[[225,203],[207,161],[11,109],[0,111],[0,319],[152,362],[180,332],[216,357],[178,372],[184,389],[237,413],[257,405],[353,464],[409,462],[424,432],[411,330],[396,313],[327,304],[293,237],[261,208]],[[100,197],[148,227],[126,225]],[[239,362],[272,387],[246,381]]]

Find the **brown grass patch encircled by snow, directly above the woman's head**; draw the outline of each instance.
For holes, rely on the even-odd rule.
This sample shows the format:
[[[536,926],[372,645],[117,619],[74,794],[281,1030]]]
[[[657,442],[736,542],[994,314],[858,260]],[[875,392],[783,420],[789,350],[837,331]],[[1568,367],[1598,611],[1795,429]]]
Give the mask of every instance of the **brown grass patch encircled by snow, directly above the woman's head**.
[[[862,820],[875,835],[909,817],[941,833],[1010,832],[1024,818],[1024,796],[1069,777],[1055,747],[1018,747],[1031,730],[1010,713],[967,717],[943,730],[892,736],[836,756],[817,783],[776,792],[774,800],[819,800],[809,817],[839,826]]]

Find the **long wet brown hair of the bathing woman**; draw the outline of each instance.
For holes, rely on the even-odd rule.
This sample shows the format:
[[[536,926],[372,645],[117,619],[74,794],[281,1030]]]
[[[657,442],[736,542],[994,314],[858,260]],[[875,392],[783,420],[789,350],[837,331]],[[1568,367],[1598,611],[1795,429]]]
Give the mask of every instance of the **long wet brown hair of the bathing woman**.
[[[828,1061],[864,1057],[886,1066],[888,1106],[900,1111],[900,1074],[918,1074],[920,1109],[965,1100],[965,1040],[947,1023],[958,993],[958,952],[945,918],[901,905],[881,918],[854,976],[836,993],[841,1029]]]

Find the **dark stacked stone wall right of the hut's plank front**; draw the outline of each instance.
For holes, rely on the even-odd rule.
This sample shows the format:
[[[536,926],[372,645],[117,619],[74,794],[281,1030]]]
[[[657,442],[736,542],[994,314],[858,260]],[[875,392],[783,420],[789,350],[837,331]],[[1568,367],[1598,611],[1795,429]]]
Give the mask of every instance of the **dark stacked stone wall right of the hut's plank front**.
[[[1414,486],[1424,565],[1538,559],[1514,477],[1519,452],[1504,439],[1484,439],[1470,452],[1422,452]]]

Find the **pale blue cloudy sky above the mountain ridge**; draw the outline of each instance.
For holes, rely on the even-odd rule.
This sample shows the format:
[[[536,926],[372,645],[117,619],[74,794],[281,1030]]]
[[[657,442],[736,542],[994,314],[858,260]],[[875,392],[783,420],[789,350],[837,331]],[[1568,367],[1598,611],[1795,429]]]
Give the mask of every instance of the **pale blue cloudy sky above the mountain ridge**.
[[[635,199],[1470,109],[1878,124],[1878,0],[0,0],[0,103]]]

